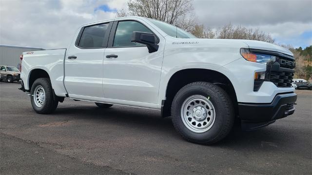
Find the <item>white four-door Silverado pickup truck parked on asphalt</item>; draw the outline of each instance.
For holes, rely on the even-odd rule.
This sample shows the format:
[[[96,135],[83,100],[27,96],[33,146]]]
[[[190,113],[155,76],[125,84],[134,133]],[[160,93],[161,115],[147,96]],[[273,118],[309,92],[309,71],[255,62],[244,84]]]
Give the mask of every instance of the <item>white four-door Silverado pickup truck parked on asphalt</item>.
[[[200,39],[140,17],[82,25],[66,49],[23,53],[21,90],[39,114],[65,97],[172,116],[186,140],[211,144],[293,114],[293,54],[254,40]],[[105,114],[103,114],[105,115]]]

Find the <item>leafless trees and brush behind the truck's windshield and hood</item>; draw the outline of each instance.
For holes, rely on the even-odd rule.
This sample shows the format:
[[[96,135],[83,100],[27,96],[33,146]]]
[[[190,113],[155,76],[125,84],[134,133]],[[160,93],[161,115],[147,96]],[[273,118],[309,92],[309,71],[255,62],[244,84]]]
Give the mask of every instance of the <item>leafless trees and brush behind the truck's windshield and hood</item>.
[[[198,24],[193,14],[192,2],[193,0],[130,0],[128,2],[129,12],[122,9],[116,13],[116,16],[134,15],[161,20],[191,32],[199,38],[252,39],[274,43],[270,34],[260,31],[258,28],[234,26],[229,23],[212,30],[203,24]]]

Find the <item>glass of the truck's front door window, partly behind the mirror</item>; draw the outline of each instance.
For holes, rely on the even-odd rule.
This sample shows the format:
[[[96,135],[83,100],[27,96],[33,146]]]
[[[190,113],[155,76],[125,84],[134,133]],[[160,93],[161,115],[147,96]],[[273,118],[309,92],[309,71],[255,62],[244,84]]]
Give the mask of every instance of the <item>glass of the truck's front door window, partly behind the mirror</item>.
[[[137,21],[120,21],[117,25],[113,46],[145,46],[144,44],[131,42],[132,33],[134,31],[152,33],[147,27]]]

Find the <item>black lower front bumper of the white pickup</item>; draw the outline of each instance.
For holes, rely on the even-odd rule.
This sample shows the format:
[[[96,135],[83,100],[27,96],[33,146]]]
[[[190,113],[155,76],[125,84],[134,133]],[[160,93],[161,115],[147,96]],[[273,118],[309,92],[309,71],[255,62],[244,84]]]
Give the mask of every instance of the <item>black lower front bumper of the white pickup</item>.
[[[239,117],[242,121],[243,130],[254,130],[292,115],[297,94],[277,94],[270,104],[239,103]]]

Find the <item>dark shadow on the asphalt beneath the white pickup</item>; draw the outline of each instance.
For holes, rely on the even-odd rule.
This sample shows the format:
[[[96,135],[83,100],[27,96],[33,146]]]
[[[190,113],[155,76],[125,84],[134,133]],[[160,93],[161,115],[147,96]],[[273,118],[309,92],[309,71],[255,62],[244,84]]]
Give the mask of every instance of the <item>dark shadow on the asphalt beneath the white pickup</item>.
[[[120,106],[107,109],[90,106],[66,106],[58,108],[53,115],[58,117],[66,116],[69,120],[79,119],[137,128],[138,132],[142,133],[150,132],[150,134],[153,134],[153,132],[157,132],[157,137],[171,137],[173,140],[180,140],[181,144],[193,144],[183,140],[175,131],[171,117],[161,118],[160,111]],[[249,147],[272,149],[272,147],[277,147],[278,142],[281,144],[289,142],[289,138],[287,138],[284,131],[285,128],[273,125],[248,132],[242,131],[240,127],[235,126],[224,140],[210,146],[231,149],[246,149]]]

